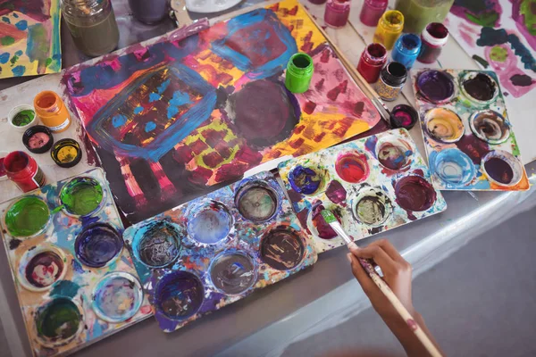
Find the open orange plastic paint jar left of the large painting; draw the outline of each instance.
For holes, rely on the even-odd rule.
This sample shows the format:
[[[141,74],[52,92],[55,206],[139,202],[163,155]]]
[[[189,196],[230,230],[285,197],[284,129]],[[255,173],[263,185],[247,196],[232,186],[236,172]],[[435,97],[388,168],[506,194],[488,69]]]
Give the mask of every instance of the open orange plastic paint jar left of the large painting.
[[[62,98],[53,91],[45,90],[34,98],[36,113],[43,125],[53,133],[61,133],[71,125],[71,117]]]

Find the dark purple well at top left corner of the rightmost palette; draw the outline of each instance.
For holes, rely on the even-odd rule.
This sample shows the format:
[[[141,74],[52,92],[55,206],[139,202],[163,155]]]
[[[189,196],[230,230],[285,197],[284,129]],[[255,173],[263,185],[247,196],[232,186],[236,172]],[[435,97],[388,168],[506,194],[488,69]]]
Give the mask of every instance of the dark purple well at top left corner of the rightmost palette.
[[[434,104],[450,102],[456,94],[454,79],[442,71],[423,71],[417,78],[416,86],[418,93]]]

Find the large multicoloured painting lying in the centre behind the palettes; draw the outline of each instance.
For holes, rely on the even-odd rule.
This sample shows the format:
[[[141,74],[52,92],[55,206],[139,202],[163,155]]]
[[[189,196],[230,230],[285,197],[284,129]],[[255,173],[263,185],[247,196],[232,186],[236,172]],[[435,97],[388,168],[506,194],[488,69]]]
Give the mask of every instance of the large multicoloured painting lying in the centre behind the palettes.
[[[202,23],[63,75],[130,221],[380,120],[296,0],[199,31]],[[283,76],[297,51],[313,57],[315,71],[310,89],[293,95]]]

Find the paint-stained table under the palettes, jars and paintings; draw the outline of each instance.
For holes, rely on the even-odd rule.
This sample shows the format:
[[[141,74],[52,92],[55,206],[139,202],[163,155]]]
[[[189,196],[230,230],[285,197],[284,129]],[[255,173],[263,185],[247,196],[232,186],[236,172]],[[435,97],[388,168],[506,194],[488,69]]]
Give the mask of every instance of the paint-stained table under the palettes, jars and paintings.
[[[177,9],[183,9],[180,1],[173,1],[178,4]],[[322,23],[323,6],[309,4],[306,0],[302,2]],[[358,17],[361,4],[362,0],[355,0],[352,4],[351,25],[348,24],[343,29],[327,29],[333,42],[354,65],[358,62],[365,44],[371,41],[374,30],[360,24]],[[169,30],[167,28],[169,23],[154,28],[134,23],[128,14],[126,0],[114,0],[113,6],[116,13],[123,12],[123,16],[119,16],[120,27],[122,27],[121,38],[126,41],[122,46]],[[244,12],[244,10],[239,11]],[[180,24],[190,20],[188,12],[178,12]],[[132,29],[141,29],[141,32]],[[79,53],[70,50],[72,48],[70,38],[67,37],[67,40],[65,38],[63,36],[63,62],[71,65],[85,60]],[[434,66],[477,69],[476,63],[465,54],[454,39],[449,39],[440,56],[440,63]],[[421,68],[423,65],[417,63],[415,67]],[[46,79],[32,80],[0,93],[0,150],[22,148],[22,144],[19,143],[20,137],[6,129],[8,124],[2,121],[9,109],[15,104],[29,102],[29,98],[41,89],[54,90],[58,82],[59,76],[48,76]],[[13,86],[15,83],[14,79],[0,81],[0,88]],[[405,87],[403,94],[396,102],[388,106],[392,108],[396,104],[415,102],[410,86]],[[523,128],[523,118],[512,118],[512,121],[516,127]],[[519,123],[521,125],[518,125]],[[80,130],[80,126],[75,123],[70,131],[57,138],[78,137],[77,130]],[[415,139],[419,151],[424,154],[423,138],[419,130],[419,127],[415,126],[410,134]],[[525,153],[523,162],[526,163],[536,159],[536,145],[531,145],[531,133],[523,131],[526,130],[518,129],[516,134],[522,154]],[[34,156],[37,156],[39,164],[44,168],[50,180],[69,177],[93,165],[93,162],[88,162],[86,159],[73,170],[64,170],[54,167],[54,163],[49,161],[47,154]],[[526,168],[533,185],[536,183],[534,175],[536,162],[528,164]],[[0,200],[15,195],[18,193],[11,183],[0,183]],[[484,228],[480,223],[484,218],[497,225],[517,212],[536,205],[536,199],[534,199],[536,188],[528,192],[508,193],[445,192],[444,196],[448,203],[446,212],[393,229],[382,235],[382,237],[389,238],[406,260],[413,264],[415,274],[429,269],[449,253],[465,245],[471,238],[483,233]],[[492,227],[487,226],[487,228]],[[365,245],[378,238],[367,238],[362,244]],[[11,273],[6,263],[4,249],[0,248],[0,251],[0,320],[4,326],[7,351],[13,356],[29,356],[29,344],[17,297],[13,291]],[[287,281],[268,286],[263,291],[197,320],[171,335],[163,334],[157,327],[156,321],[148,319],[80,351],[79,355],[278,355],[286,346],[298,341],[301,337],[311,336],[326,328],[336,326],[368,306],[367,299],[348,269],[348,261],[344,256],[346,253],[343,247],[322,253],[312,269],[297,274]],[[0,336],[0,344],[3,343],[3,336]],[[4,351],[5,349],[2,352]]]

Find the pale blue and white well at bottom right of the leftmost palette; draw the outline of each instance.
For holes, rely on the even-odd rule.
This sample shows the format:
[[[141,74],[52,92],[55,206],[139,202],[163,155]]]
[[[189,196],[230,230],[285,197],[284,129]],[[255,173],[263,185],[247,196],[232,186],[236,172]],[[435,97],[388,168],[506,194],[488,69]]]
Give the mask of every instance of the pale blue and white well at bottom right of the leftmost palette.
[[[143,289],[138,278],[116,271],[105,275],[96,283],[92,299],[96,316],[118,323],[136,315],[143,303]]]

